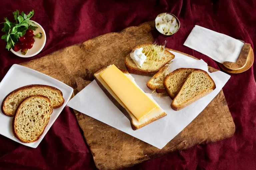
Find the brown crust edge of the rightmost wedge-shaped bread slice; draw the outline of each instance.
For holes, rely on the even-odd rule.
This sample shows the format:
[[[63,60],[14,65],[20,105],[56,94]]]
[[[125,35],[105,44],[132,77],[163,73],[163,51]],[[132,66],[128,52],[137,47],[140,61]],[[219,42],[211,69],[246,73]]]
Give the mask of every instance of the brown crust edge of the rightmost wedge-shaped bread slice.
[[[211,76],[210,76],[206,71],[204,71],[204,70],[195,69],[195,71],[199,71],[199,70],[200,70],[200,71],[203,71],[203,72],[205,72],[205,73],[207,74],[208,78],[213,82],[213,87],[210,88],[208,91],[204,90],[203,93],[201,93],[200,95],[198,95],[198,96],[192,98],[191,100],[189,100],[189,101],[186,102],[185,104],[175,106],[175,105],[173,104],[173,101],[174,101],[174,99],[178,96],[178,94],[180,93],[180,91],[179,91],[179,93],[175,96],[175,98],[173,99],[173,101],[172,101],[172,103],[171,103],[171,108],[172,108],[173,110],[179,111],[179,110],[181,110],[181,109],[187,107],[187,106],[190,105],[191,103],[193,103],[193,102],[195,102],[195,101],[201,99],[202,97],[208,95],[209,93],[211,93],[211,92],[216,88],[215,82],[213,81],[213,79],[211,78]],[[191,74],[190,74],[190,75],[191,75]],[[190,76],[190,75],[189,75],[189,76]],[[187,77],[187,79],[189,78],[189,76]],[[185,83],[184,83],[184,84],[185,84]],[[184,84],[182,85],[181,89],[183,88]]]

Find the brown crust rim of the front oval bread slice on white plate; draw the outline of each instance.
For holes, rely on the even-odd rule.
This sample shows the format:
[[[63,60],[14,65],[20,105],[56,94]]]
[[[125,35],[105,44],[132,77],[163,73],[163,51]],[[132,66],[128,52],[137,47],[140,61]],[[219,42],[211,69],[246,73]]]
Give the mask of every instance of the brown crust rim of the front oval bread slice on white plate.
[[[29,97],[27,97],[26,99],[24,99],[24,100],[19,104],[19,106],[17,107],[17,110],[16,110],[16,112],[15,112],[14,118],[13,118],[13,120],[12,120],[12,131],[13,131],[13,134],[14,134],[14,136],[15,136],[17,139],[19,139],[19,140],[20,140],[21,142],[23,142],[23,143],[32,143],[32,142],[37,141],[37,140],[42,136],[42,134],[43,134],[43,132],[44,132],[46,126],[48,125],[49,120],[50,120],[50,118],[49,118],[47,125],[44,127],[44,130],[42,131],[42,134],[40,134],[40,135],[37,137],[36,140],[33,140],[33,141],[26,141],[26,140],[23,140],[23,139],[19,138],[19,136],[17,135],[17,131],[16,131],[15,128],[14,128],[14,125],[15,125],[15,123],[16,123],[15,118],[16,118],[16,116],[17,116],[16,113],[18,113],[21,104],[22,104],[23,102],[25,102],[26,100],[28,100],[29,98],[31,98],[31,97],[35,97],[35,96],[29,96]],[[36,97],[45,98],[46,100],[48,100],[49,103],[51,103],[51,101],[50,101],[46,96],[40,95],[40,96],[36,96]],[[52,114],[52,112],[53,112],[53,107],[51,107],[51,114]],[[51,115],[51,114],[50,114],[50,115]]]

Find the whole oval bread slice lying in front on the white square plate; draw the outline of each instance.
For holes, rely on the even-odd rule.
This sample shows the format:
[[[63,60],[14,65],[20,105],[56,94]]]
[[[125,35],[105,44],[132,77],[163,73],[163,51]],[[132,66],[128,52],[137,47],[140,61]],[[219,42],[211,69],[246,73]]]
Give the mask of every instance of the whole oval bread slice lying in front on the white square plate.
[[[53,107],[45,96],[30,96],[17,108],[13,133],[24,143],[38,140],[47,126]]]

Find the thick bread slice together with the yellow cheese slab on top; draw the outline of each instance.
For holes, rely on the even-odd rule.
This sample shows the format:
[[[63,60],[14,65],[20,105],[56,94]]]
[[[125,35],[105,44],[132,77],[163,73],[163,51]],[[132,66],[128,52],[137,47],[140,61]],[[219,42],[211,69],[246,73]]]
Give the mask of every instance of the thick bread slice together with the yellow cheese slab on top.
[[[129,119],[133,130],[166,116],[152,95],[142,91],[127,70],[110,65],[97,71],[94,78],[108,98]]]

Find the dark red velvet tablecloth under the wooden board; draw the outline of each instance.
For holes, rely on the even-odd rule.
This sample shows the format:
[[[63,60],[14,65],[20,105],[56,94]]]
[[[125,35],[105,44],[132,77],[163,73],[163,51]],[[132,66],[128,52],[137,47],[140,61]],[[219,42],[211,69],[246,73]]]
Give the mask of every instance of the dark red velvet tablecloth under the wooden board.
[[[21,58],[0,41],[0,80],[14,63],[42,57],[63,47],[81,43],[109,32],[154,20],[162,12],[175,14],[181,22],[167,47],[179,50],[218,68],[209,57],[183,45],[194,25],[256,44],[256,1],[99,1],[99,0],[3,0],[0,19],[13,18],[16,9],[34,9],[32,18],[43,26],[46,45],[41,53]],[[1,24],[1,27],[3,25]],[[254,50],[254,53],[256,51]],[[128,169],[256,169],[256,65],[231,78],[223,91],[236,125],[233,137],[217,143],[169,153]],[[96,169],[92,155],[72,109],[65,107],[37,148],[30,148],[0,135],[0,169]]]

